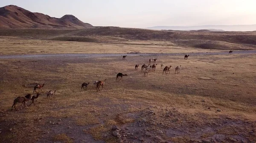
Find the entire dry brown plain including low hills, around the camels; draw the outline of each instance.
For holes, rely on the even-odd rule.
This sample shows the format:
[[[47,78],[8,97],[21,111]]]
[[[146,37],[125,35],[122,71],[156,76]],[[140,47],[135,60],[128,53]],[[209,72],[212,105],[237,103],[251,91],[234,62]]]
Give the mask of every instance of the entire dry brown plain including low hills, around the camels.
[[[1,30],[0,142],[256,142],[256,54],[228,55],[229,50],[254,50],[255,32],[134,31]],[[207,52],[227,54],[197,54],[184,60],[185,54]],[[3,58],[59,53],[127,57]],[[143,76],[141,66],[152,58],[157,58],[157,68]],[[163,74],[161,63],[172,65],[170,73]],[[178,65],[180,73],[175,74]],[[128,76],[116,81],[117,73]],[[104,79],[103,90],[96,92],[93,81]],[[81,90],[83,82],[90,82],[87,90]],[[13,100],[32,93],[37,83],[45,85],[35,105],[20,109],[17,104],[18,111],[11,111]],[[49,90],[56,90],[52,99],[47,99]],[[113,135],[114,125],[119,137]]]

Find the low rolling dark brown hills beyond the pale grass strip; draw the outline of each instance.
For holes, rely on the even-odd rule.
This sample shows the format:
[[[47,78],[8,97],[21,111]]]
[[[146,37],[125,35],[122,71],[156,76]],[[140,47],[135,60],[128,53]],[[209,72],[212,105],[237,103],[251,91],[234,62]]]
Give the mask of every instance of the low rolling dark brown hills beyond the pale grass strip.
[[[128,45],[146,43],[146,45],[154,46],[173,45],[177,47],[218,50],[256,49],[256,32],[158,31],[120,27],[84,29],[6,28],[1,30],[0,36]]]

